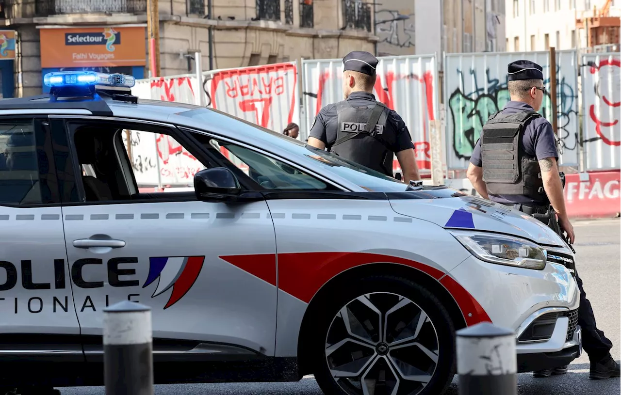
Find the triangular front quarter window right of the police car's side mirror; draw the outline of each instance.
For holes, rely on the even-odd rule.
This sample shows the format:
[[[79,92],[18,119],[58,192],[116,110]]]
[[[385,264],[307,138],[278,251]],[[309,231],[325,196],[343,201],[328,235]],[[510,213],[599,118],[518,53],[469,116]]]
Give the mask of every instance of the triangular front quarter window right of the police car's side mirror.
[[[283,161],[238,144],[218,140],[211,136],[193,133],[214,156],[230,166],[237,167],[264,190],[337,190],[331,184],[319,180]]]

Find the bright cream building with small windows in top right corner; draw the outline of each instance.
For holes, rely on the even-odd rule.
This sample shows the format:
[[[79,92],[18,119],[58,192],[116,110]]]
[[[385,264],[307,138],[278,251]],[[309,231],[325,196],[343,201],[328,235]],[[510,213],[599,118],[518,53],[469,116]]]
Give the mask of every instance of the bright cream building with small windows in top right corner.
[[[508,51],[586,48],[586,32],[576,17],[593,15],[606,0],[506,0]],[[609,4],[610,16],[621,15],[621,1]]]

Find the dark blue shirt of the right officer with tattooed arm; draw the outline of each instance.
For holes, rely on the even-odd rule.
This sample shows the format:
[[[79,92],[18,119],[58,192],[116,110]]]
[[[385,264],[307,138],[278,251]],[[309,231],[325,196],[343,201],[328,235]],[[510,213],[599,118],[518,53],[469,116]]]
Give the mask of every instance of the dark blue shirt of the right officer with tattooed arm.
[[[502,113],[512,114],[524,110],[533,110],[533,107],[524,102],[512,100],[505,105]],[[545,158],[556,158],[558,160],[558,151],[556,150],[556,140],[552,125],[543,117],[535,118],[528,123],[524,136],[522,136],[522,146],[529,156],[537,158],[538,161]],[[474,146],[470,162],[474,166],[483,166],[480,138]],[[524,195],[489,195],[489,200],[498,203],[536,203]]]

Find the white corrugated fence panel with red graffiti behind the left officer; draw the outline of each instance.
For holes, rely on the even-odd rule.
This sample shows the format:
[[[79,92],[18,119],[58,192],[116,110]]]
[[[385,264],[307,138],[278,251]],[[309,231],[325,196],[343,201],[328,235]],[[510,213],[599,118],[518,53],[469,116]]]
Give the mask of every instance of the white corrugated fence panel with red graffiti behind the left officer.
[[[430,171],[429,121],[438,120],[438,74],[435,55],[379,57],[376,99],[395,110],[410,130],[419,169]],[[315,116],[325,105],[343,100],[343,60],[302,61],[302,92],[308,137]],[[394,170],[400,171],[394,161]]]

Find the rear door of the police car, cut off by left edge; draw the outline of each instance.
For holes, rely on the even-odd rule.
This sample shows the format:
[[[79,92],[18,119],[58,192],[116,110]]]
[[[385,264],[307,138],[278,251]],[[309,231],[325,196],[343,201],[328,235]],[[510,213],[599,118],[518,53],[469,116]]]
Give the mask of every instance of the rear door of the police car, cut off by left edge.
[[[44,115],[0,111],[0,360],[84,360]]]

